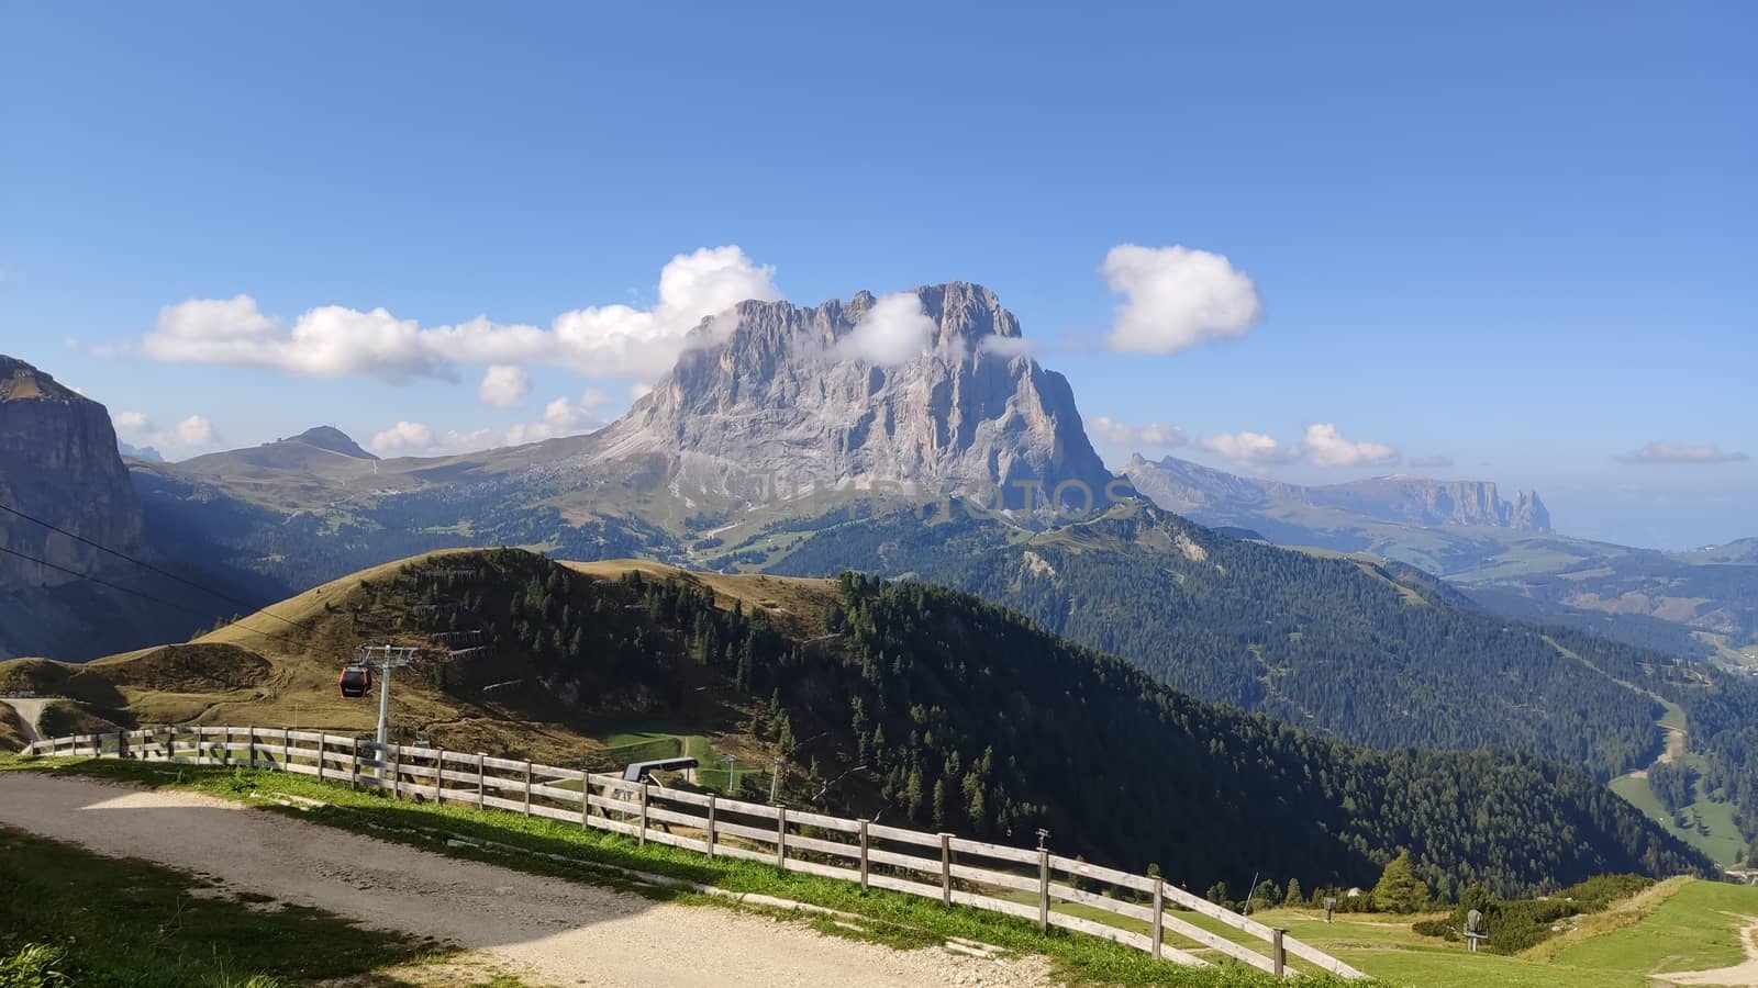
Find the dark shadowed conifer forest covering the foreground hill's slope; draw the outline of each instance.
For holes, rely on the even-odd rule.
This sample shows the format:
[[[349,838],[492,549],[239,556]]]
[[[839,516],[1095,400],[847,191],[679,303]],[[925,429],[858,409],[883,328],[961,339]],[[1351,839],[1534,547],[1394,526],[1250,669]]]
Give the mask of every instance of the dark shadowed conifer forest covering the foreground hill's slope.
[[[847,573],[802,642],[698,584],[490,556],[512,599],[473,607],[506,607],[517,647],[498,665],[673,710],[700,696],[694,668],[747,698],[742,730],[793,765],[791,798],[832,812],[1016,846],[1042,826],[1064,853],[1151,863],[1195,891],[1243,893],[1252,874],[1371,886],[1399,849],[1440,895],[1709,868],[1577,768],[1354,747],[1192,700],[956,591]]]

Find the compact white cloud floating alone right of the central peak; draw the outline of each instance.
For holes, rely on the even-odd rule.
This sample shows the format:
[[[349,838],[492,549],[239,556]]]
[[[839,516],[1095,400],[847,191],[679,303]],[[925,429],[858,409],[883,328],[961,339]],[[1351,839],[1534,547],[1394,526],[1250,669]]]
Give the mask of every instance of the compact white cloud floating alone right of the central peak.
[[[1264,315],[1252,280],[1206,250],[1120,244],[1099,271],[1129,297],[1106,336],[1111,350],[1173,353],[1245,336]]]

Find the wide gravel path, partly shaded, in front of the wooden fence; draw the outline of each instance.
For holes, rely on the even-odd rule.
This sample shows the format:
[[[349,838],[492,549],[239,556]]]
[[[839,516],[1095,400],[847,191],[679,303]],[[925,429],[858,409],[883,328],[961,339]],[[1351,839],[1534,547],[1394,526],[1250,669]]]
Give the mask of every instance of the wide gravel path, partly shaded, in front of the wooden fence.
[[[796,923],[445,858],[197,793],[0,772],[0,825],[438,937],[534,984],[1050,984],[1042,958],[893,951]]]

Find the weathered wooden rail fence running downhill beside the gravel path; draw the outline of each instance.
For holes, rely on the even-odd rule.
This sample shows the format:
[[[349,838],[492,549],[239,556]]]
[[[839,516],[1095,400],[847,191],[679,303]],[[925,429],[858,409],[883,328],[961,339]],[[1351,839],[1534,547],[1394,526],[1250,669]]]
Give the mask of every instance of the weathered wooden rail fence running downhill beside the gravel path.
[[[789,872],[884,888],[946,905],[970,905],[1104,937],[1174,963],[1206,965],[1210,951],[1271,974],[1294,974],[1289,956],[1341,977],[1366,977],[1283,930],[1257,923],[1151,879],[1088,865],[1041,849],[1004,847],[951,833],[923,833],[865,819],[689,793],[621,775],[552,768],[482,752],[383,745],[369,740],[269,728],[167,726],[74,735],[32,744],[25,754],[97,756],[237,765],[299,772],[334,782],[387,789],[396,798],[473,805],[610,830],[640,844],[670,844],[708,856],[765,861]],[[1079,904],[1139,921],[1134,932],[1071,916]],[[1185,918],[1195,912],[1260,941],[1264,949]]]

